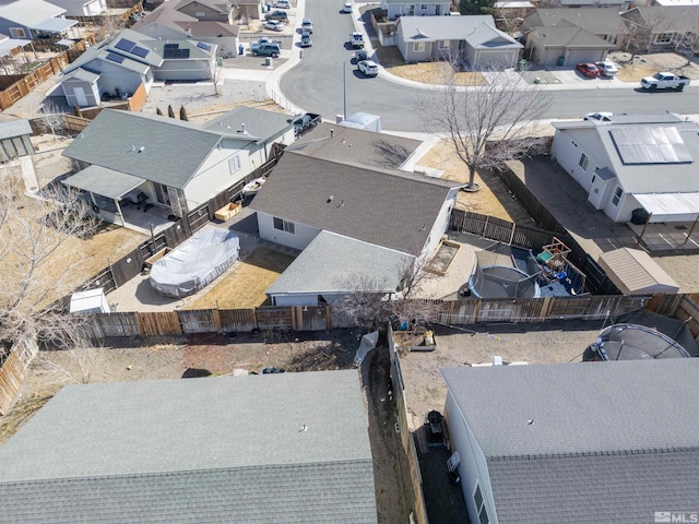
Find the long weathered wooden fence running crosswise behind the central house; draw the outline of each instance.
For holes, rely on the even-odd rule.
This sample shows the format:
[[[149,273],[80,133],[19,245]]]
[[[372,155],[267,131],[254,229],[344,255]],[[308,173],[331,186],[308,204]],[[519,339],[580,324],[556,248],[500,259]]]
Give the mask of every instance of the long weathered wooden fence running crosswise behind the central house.
[[[548,320],[602,320],[638,309],[672,315],[682,310],[699,330],[699,307],[683,295],[585,296],[531,299],[413,300],[412,310],[440,324],[484,322],[545,322]],[[680,308],[683,300],[691,303]],[[260,307],[254,309],[203,309],[153,312],[98,313],[91,335],[162,336],[192,333],[262,331],[322,331],[353,327],[355,323],[331,307]],[[692,325],[690,325],[690,329]],[[692,332],[694,333],[694,332]],[[699,332],[697,333],[699,334]],[[697,336],[697,335],[695,335]]]

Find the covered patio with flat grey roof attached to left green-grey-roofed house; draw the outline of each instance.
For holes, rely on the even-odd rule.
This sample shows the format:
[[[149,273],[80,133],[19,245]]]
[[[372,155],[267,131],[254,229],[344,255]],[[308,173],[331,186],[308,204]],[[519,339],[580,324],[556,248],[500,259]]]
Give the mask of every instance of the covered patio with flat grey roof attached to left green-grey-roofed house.
[[[84,191],[93,212],[103,221],[145,235],[157,235],[173,224],[168,219],[170,207],[150,202],[143,189],[151,182],[143,178],[90,166],[62,183]]]

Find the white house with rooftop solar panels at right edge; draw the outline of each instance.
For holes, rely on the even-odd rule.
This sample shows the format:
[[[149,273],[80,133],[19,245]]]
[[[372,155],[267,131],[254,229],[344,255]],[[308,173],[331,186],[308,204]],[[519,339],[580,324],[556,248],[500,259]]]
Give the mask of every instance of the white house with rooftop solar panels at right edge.
[[[699,217],[699,126],[670,114],[612,122],[554,122],[550,155],[614,222],[645,210],[651,223]]]

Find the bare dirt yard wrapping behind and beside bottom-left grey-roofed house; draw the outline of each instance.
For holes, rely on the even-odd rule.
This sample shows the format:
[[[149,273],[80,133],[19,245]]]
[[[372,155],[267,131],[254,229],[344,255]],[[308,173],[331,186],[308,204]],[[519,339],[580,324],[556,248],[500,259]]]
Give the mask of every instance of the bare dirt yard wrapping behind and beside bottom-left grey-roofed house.
[[[260,372],[263,367],[287,372],[352,369],[359,333],[332,330],[305,333],[238,333],[192,337],[114,338],[102,347],[71,352],[42,352],[14,409],[0,418],[0,445],[45,402],[68,383],[94,383],[210,378]],[[405,468],[394,434],[395,409],[388,395],[389,360],[386,344],[369,353],[362,368],[378,521],[407,522],[401,468]],[[322,395],[322,392],[319,392]]]

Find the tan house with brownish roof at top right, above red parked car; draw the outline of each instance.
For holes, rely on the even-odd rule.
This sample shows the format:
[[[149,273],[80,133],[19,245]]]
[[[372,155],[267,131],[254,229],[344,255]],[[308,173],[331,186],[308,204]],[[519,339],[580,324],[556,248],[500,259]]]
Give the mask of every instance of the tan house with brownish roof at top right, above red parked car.
[[[574,67],[604,60],[629,29],[616,8],[537,9],[524,17],[522,33],[531,62]]]

